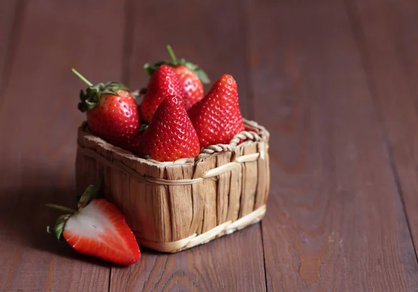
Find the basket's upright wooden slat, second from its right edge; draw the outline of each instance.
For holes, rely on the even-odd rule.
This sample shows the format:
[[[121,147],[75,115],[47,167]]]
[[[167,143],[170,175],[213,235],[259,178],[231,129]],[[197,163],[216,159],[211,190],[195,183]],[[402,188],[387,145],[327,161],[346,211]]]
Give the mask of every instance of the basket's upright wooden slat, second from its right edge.
[[[242,154],[257,153],[257,144],[251,143],[242,148]],[[242,194],[240,217],[243,217],[254,210],[256,199],[256,188],[258,180],[258,164],[256,161],[244,162],[242,164]]]

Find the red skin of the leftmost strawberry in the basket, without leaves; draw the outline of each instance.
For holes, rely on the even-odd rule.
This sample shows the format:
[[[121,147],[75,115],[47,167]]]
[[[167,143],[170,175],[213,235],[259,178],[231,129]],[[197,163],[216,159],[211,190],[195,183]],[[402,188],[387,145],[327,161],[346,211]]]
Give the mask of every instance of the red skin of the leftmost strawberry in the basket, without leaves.
[[[115,146],[125,147],[138,134],[139,109],[129,91],[118,95],[103,94],[98,105],[87,112],[87,123],[93,134]]]

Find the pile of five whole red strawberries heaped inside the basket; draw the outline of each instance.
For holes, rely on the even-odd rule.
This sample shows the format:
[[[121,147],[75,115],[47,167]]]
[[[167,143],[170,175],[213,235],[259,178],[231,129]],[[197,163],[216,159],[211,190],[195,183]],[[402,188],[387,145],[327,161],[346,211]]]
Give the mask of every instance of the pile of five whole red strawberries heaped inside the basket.
[[[231,75],[222,75],[206,95],[203,70],[185,59],[144,66],[150,75],[144,98],[137,105],[127,86],[118,82],[93,85],[72,70],[88,88],[81,91],[79,109],[87,114],[93,134],[139,157],[174,161],[196,157],[201,148],[229,144],[244,122],[238,89]]]

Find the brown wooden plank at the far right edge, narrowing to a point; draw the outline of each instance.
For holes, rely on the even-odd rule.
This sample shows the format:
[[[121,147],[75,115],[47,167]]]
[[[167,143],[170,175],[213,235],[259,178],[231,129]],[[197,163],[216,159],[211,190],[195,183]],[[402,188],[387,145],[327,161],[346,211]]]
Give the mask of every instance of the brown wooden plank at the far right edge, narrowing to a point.
[[[347,8],[418,251],[418,3],[353,1]]]

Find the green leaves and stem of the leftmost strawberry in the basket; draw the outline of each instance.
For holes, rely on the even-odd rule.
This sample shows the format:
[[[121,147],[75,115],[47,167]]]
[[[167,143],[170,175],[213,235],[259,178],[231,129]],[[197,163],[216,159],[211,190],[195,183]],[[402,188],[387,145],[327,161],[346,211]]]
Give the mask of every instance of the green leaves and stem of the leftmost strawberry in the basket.
[[[81,75],[77,70],[74,68],[71,70],[79,79],[82,79],[84,83],[88,85],[86,92],[83,90],[80,91],[80,102],[78,104],[78,109],[81,112],[87,112],[93,109],[98,103],[100,102],[100,97],[103,94],[112,94],[118,95],[116,91],[118,90],[126,90],[129,91],[127,86],[120,82],[107,82],[107,83],[98,83],[93,85],[91,82],[86,79],[83,75]]]

